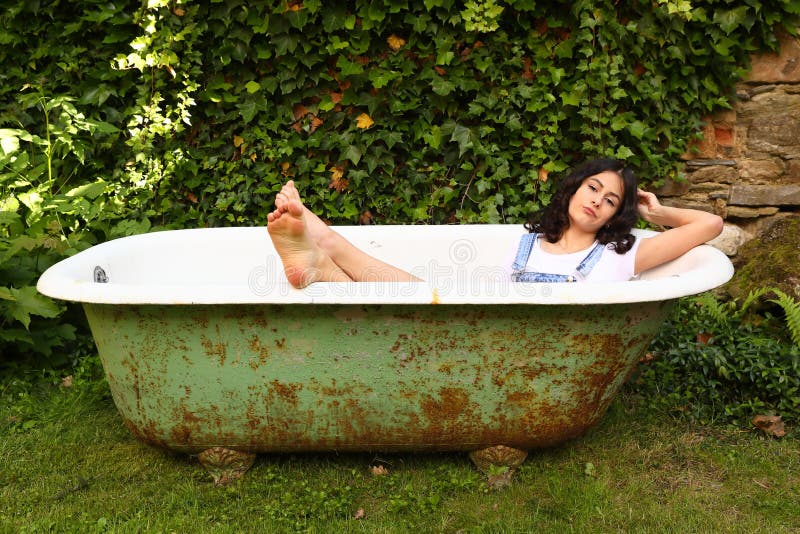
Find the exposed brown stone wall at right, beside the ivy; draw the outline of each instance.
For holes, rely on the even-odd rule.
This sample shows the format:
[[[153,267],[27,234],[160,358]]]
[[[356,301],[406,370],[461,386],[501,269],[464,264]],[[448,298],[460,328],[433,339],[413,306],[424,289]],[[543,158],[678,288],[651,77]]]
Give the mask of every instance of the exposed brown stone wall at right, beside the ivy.
[[[779,54],[754,57],[737,97],[684,155],[687,181],[656,191],[664,204],[722,216],[713,244],[730,256],[776,218],[800,214],[800,39],[782,36]]]

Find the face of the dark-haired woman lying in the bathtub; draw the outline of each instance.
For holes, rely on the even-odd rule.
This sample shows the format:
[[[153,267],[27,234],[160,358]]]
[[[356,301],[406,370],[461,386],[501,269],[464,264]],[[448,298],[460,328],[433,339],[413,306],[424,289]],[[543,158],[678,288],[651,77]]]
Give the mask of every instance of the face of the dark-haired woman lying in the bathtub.
[[[603,171],[581,182],[569,200],[570,226],[597,233],[622,205],[624,184],[613,171]]]

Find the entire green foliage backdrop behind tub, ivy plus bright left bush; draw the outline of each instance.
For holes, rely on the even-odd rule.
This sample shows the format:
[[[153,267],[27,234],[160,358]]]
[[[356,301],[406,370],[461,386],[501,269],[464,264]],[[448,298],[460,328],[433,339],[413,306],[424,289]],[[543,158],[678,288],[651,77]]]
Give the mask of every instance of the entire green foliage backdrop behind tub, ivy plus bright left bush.
[[[0,347],[49,354],[52,262],[160,228],[519,222],[585,157],[677,178],[791,0],[11,1]],[[22,347],[22,348],[21,348]]]

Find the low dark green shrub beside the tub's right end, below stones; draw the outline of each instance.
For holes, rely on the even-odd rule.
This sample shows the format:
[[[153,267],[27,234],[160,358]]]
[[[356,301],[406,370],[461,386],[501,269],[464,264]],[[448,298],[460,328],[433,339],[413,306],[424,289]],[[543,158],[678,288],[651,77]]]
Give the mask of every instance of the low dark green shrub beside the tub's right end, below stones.
[[[653,357],[632,388],[651,406],[703,422],[750,426],[756,415],[800,421],[800,303],[784,293],[785,319],[711,293],[683,299],[650,346]]]

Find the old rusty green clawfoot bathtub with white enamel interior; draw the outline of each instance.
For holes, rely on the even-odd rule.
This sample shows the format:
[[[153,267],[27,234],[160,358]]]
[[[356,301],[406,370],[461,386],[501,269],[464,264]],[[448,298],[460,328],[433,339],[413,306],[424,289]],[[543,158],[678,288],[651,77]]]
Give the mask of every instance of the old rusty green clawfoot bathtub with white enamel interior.
[[[704,245],[636,281],[514,284],[521,226],[337,230],[425,282],[297,290],[264,228],[217,228],[95,246],[38,289],[83,303],[131,432],[225,482],[258,452],[465,450],[513,467],[594,425],[670,302],[733,273]]]

